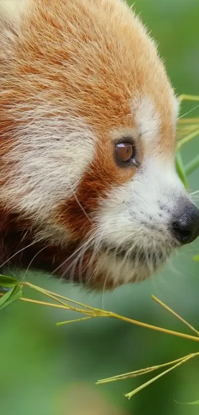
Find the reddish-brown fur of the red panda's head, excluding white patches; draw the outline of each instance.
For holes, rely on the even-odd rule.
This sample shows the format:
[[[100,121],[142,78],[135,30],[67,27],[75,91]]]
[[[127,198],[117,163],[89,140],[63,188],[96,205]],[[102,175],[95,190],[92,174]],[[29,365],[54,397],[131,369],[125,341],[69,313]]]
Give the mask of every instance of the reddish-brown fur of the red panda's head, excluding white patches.
[[[76,246],[91,231],[99,201],[107,197],[107,190],[127,183],[135,174],[135,167],[117,166],[110,138],[116,128],[135,127],[130,100],[147,95],[156,104],[161,118],[159,152],[164,153],[173,152],[174,129],[168,123],[171,106],[166,105],[165,113],[165,102],[173,97],[156,47],[148,37],[143,41],[143,29],[125,5],[116,0],[73,0],[67,4],[65,0],[34,0],[30,10],[22,14],[20,28],[12,29],[16,37],[14,46],[8,40],[10,55],[1,57],[1,158],[14,145],[18,106],[20,113],[26,114],[39,104],[52,103],[52,113],[42,114],[46,122],[47,117],[71,111],[86,120],[98,139],[94,160],[81,178],[76,195],[61,202],[54,212],[57,223],[70,231],[71,247],[66,251],[61,245],[46,246],[35,260],[36,267],[42,268],[43,263],[45,269],[51,270],[52,257],[55,267],[70,255],[73,243]],[[4,75],[5,70],[9,76]],[[23,123],[32,121],[29,116]],[[138,147],[142,161],[141,139]],[[10,164],[0,165],[2,183],[9,180],[9,173],[5,174],[8,168],[11,172]],[[5,213],[3,207],[0,218],[2,263],[34,238],[34,226],[30,226],[29,218],[23,219],[21,212]],[[40,249],[40,244],[27,248],[20,263],[28,265]],[[13,263],[18,263],[18,258]],[[99,276],[99,280],[103,278]]]

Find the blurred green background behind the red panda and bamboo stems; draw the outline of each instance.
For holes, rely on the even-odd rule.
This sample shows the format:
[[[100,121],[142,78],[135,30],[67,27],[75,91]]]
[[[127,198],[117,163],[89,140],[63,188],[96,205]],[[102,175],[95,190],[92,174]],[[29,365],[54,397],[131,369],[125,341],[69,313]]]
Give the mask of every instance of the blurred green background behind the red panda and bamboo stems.
[[[158,41],[177,93],[199,94],[199,0],[137,0],[135,9]],[[196,104],[183,104],[182,113]],[[190,116],[197,113],[199,108]],[[195,138],[183,148],[183,160],[188,162],[198,152],[199,139]],[[199,189],[199,170],[190,176],[189,184],[192,190]],[[103,296],[39,274],[28,273],[26,279],[94,307],[189,332],[155,304],[150,294],[199,328],[199,263],[192,261],[197,253],[199,241],[172,258],[161,275]],[[111,319],[55,326],[70,318],[75,318],[72,313],[22,301],[1,312],[0,414],[199,414],[199,406],[175,402],[199,399],[199,358],[166,374],[129,401],[123,393],[150,376],[94,384],[100,378],[199,351],[198,343]]]

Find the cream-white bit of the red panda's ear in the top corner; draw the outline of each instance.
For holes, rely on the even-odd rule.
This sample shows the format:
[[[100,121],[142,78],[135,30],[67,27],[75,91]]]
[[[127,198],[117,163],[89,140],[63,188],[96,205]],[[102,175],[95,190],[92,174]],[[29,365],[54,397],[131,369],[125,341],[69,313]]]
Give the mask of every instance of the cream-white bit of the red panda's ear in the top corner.
[[[17,24],[21,15],[29,6],[30,0],[0,0],[0,22],[1,24]]]

